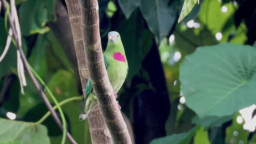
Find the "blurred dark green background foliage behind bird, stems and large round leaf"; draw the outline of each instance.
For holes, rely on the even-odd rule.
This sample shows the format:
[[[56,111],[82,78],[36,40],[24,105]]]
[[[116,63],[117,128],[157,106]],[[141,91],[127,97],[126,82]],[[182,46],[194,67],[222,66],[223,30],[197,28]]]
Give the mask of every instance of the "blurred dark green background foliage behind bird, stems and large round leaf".
[[[71,56],[74,49],[63,48],[65,43],[61,44],[62,37],[58,37],[61,29],[53,26],[60,18],[55,6],[65,6],[64,0],[60,2],[56,5],[56,0],[16,0],[22,48],[58,102],[82,95],[76,57]],[[99,0],[102,48],[106,48],[108,32],[114,30],[122,36],[126,51],[129,72],[118,101],[132,123],[136,143],[148,144],[164,136],[167,137],[152,144],[255,143],[254,132],[244,130],[244,122],[236,122],[239,113],[200,119],[184,104],[179,74],[184,57],[199,46],[224,42],[254,45],[256,1],[200,0],[178,24],[183,3],[184,0]],[[68,18],[61,21],[69,22]],[[7,38],[3,10],[0,26],[2,53]],[[0,117],[9,119],[7,113],[11,112],[16,114],[15,120],[36,122],[47,109],[28,76],[25,94],[21,94],[16,59],[16,48],[11,44],[0,63]],[[83,100],[72,101],[62,108],[70,134],[78,143],[90,143],[88,123],[78,120],[82,103]],[[42,124],[48,130],[48,136],[42,134],[45,140],[60,143],[62,132],[51,116]]]

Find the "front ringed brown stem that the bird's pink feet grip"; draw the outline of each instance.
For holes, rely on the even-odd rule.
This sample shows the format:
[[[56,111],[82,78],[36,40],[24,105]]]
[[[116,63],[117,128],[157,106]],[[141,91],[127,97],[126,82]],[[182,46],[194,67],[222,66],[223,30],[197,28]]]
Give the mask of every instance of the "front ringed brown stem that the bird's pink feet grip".
[[[132,144],[104,64],[98,10],[98,0],[81,0],[83,42],[90,80],[114,144]]]

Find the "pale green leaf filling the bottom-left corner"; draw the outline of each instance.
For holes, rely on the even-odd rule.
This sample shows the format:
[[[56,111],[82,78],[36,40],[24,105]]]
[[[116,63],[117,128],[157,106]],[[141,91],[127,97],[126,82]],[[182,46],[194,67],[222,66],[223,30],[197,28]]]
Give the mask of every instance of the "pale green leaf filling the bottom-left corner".
[[[0,143],[8,141],[17,141],[20,144],[50,144],[46,126],[0,118]]]

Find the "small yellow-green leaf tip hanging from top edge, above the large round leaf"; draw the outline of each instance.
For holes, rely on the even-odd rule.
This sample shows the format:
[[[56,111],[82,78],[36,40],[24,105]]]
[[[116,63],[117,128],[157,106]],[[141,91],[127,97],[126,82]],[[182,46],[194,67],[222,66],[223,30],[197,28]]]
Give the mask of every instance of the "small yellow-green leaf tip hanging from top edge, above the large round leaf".
[[[185,18],[185,16],[187,16],[190,13],[192,8],[195,6],[196,2],[197,0],[184,0],[184,4],[180,12],[178,23],[180,23],[180,21],[183,20],[183,18]]]

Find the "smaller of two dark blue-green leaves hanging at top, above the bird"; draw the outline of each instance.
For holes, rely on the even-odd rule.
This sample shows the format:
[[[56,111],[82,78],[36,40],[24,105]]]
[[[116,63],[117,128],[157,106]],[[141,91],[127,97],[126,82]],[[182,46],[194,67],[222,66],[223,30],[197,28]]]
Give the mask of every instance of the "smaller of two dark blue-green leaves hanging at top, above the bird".
[[[139,6],[140,0],[118,0],[118,4],[124,12],[126,19],[128,19],[135,8]]]

